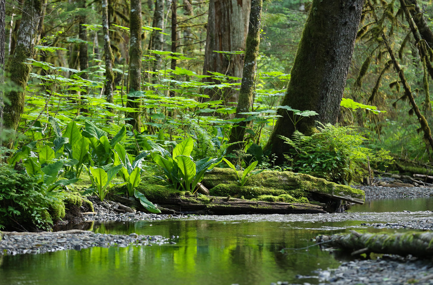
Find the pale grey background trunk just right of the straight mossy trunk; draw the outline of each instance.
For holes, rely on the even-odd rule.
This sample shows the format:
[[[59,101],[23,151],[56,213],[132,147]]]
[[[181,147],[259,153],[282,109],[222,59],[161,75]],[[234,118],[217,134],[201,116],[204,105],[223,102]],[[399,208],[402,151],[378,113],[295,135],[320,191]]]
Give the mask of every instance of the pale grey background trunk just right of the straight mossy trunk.
[[[164,2],[165,0],[155,0],[155,12],[153,14],[152,27],[164,29]],[[164,35],[161,30],[153,30],[150,36],[149,49],[162,51],[164,46]],[[153,65],[153,70],[161,69],[162,58],[161,55],[153,54],[156,61]]]

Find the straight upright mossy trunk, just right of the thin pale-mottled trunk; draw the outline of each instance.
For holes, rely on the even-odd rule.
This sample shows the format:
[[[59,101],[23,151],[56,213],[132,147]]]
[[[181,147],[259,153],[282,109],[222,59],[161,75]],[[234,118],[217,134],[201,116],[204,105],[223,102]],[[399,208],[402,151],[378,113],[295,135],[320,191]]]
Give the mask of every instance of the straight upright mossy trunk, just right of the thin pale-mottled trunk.
[[[139,110],[139,97],[134,96],[133,91],[141,90],[141,1],[131,0],[131,12],[129,16],[129,94],[126,107]],[[128,113],[129,123],[134,130],[140,131],[140,112]]]

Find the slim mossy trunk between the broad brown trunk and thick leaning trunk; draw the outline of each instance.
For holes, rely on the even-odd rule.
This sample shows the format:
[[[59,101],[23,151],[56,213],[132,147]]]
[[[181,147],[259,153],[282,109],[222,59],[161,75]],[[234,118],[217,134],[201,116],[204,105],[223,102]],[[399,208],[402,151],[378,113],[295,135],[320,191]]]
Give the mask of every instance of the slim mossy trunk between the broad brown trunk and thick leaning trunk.
[[[255,70],[257,66],[257,56],[259,55],[260,28],[262,23],[262,0],[251,1],[251,12],[249,14],[248,36],[246,38],[246,50],[244,68],[242,73],[242,84],[239,90],[238,106],[236,107],[235,118],[247,118],[249,115],[241,114],[249,112],[252,97],[255,91]],[[242,121],[232,128],[230,133],[230,143],[242,142],[245,135],[247,122]],[[243,149],[243,143],[236,143],[228,147],[227,154],[233,150]]]

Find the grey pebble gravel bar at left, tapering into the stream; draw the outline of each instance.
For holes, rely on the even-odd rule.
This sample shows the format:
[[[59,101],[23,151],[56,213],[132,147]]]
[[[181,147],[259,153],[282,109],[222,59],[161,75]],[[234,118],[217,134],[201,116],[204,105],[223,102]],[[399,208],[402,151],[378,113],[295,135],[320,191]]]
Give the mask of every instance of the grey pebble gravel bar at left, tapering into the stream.
[[[71,232],[71,233],[70,233]],[[81,250],[87,247],[129,245],[152,246],[172,243],[162,236],[148,236],[131,233],[112,235],[72,230],[57,233],[9,233],[0,241],[0,254],[46,253],[65,249]]]

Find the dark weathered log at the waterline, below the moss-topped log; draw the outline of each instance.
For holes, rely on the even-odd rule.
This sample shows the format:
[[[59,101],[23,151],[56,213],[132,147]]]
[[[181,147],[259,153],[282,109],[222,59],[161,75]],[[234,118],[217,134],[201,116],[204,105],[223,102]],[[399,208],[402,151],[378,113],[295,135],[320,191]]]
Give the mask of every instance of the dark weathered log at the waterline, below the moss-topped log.
[[[326,213],[322,207],[303,203],[272,203],[213,196],[171,196],[155,198],[154,203],[186,214],[316,214]]]

